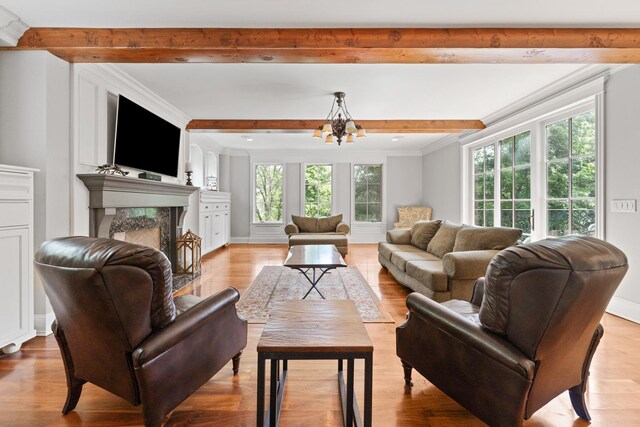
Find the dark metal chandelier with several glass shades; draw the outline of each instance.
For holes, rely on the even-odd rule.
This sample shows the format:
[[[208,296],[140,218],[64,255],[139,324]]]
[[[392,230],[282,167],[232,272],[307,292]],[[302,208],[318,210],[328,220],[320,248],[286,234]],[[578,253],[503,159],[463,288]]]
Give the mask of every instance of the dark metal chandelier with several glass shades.
[[[325,123],[313,131],[313,137],[324,139],[325,144],[333,144],[333,138],[336,138],[338,145],[340,145],[345,136],[347,137],[347,144],[352,143],[356,137],[363,138],[367,136],[367,131],[351,117],[347,109],[347,103],[344,100],[346,94],[344,92],[335,92],[333,95],[331,111],[329,111]]]

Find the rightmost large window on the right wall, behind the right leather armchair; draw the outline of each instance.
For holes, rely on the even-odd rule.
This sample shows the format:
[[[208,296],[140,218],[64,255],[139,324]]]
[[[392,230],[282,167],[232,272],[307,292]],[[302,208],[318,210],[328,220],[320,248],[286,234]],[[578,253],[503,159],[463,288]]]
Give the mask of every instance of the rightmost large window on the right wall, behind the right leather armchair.
[[[547,236],[596,232],[593,111],[545,127]]]

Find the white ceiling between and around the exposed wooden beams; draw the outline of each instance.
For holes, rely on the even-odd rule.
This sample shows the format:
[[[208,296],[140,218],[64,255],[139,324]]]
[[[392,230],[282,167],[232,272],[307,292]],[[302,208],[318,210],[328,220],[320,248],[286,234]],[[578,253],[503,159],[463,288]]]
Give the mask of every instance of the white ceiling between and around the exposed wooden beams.
[[[638,27],[640,0],[0,0],[29,26]],[[118,64],[191,118],[483,119],[581,65]],[[243,136],[254,141],[246,142]],[[398,141],[391,138],[401,136]],[[418,150],[443,134],[369,135],[349,150]],[[211,134],[239,149],[331,149],[310,134]],[[336,149],[334,144],[333,149]]]

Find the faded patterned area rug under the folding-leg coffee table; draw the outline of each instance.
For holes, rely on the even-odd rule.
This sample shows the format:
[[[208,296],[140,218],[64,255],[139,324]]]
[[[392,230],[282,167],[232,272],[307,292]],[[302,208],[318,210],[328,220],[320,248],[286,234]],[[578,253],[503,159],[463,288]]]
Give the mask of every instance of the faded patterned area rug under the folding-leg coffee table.
[[[367,281],[356,267],[331,270],[316,285],[327,300],[351,300],[363,322],[393,323]],[[283,266],[265,266],[236,304],[238,314],[249,323],[265,323],[274,304],[300,300],[311,285],[298,270]],[[315,290],[305,301],[321,300]]]

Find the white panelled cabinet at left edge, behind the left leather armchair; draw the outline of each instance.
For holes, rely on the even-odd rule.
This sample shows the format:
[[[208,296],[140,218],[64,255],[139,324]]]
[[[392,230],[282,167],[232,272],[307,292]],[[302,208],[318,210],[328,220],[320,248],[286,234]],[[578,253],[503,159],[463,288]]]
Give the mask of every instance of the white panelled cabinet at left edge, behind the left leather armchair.
[[[33,169],[0,165],[0,349],[36,335],[33,312]]]

